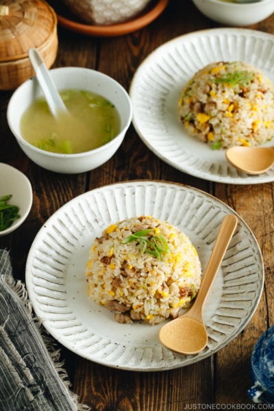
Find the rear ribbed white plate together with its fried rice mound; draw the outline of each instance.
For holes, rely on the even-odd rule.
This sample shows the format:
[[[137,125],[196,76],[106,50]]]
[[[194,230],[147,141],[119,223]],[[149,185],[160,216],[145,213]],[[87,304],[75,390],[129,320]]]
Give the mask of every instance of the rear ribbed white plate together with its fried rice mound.
[[[227,162],[225,149],[274,145],[273,55],[273,34],[250,29],[208,29],[166,42],[132,80],[136,132],[184,173],[228,184],[272,182],[274,168],[247,175]]]

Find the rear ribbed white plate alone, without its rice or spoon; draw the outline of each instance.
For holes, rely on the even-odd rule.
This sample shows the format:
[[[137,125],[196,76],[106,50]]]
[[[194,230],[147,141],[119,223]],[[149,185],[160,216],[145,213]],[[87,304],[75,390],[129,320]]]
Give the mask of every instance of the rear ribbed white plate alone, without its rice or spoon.
[[[177,103],[188,80],[211,62],[240,60],[257,66],[274,82],[274,36],[249,29],[208,29],[175,38],[153,51],[140,65],[129,95],[133,123],[143,142],[164,162],[214,182],[272,182],[274,168],[262,175],[236,171],[225,150],[212,151],[188,136],[177,116]],[[273,141],[264,145],[273,145]]]

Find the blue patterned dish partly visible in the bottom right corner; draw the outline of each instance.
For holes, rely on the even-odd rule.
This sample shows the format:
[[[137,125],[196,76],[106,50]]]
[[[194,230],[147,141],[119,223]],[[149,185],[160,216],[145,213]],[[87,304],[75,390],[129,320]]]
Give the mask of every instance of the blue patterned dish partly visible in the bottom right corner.
[[[255,403],[274,404],[274,326],[258,340],[251,356],[250,376],[253,386],[247,395]]]

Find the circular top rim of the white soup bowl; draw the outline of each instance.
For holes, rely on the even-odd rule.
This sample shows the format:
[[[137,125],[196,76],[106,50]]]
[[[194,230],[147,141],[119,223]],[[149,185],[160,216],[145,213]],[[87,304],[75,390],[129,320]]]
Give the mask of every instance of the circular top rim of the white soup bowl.
[[[123,86],[121,86],[121,84],[119,82],[117,82],[115,79],[113,79],[112,77],[110,77],[110,75],[101,73],[101,71],[97,71],[97,70],[93,70],[93,69],[87,69],[86,67],[75,67],[75,66],[69,66],[69,67],[58,67],[56,69],[51,69],[49,70],[50,72],[52,71],[64,71],[64,70],[70,70],[70,69],[79,69],[79,71],[93,71],[95,73],[98,73],[101,77],[108,77],[108,79],[111,79],[112,82],[114,82],[116,84],[116,86],[123,92],[123,94],[125,95],[126,99],[127,99],[127,103],[129,104],[129,118],[127,120],[127,123],[125,125],[125,127],[123,127],[123,129],[121,129],[120,133],[117,134],[116,137],[114,137],[110,142],[107,142],[106,144],[102,145],[101,147],[98,147],[97,149],[93,149],[93,150],[89,150],[89,151],[84,151],[83,153],[72,153],[72,154],[60,154],[60,153],[51,153],[51,151],[45,151],[45,150],[41,150],[38,149],[37,147],[35,147],[34,145],[30,144],[29,142],[27,142],[23,137],[18,136],[15,132],[14,132],[14,128],[12,127],[12,124],[10,123],[10,105],[12,103],[12,100],[16,98],[16,94],[17,92],[19,92],[19,90],[21,88],[23,88],[23,86],[25,86],[25,84],[27,82],[32,82],[32,78],[27,79],[25,82],[23,82],[23,84],[21,84],[21,86],[19,86],[18,88],[16,88],[16,90],[14,91],[14,93],[12,94],[12,97],[10,97],[10,101],[8,102],[8,109],[7,109],[7,119],[8,119],[8,125],[10,127],[10,130],[12,131],[12,134],[15,136],[16,140],[19,140],[23,145],[25,145],[26,147],[28,147],[29,149],[32,149],[33,151],[35,151],[36,153],[43,153],[44,155],[51,157],[51,158],[79,158],[79,157],[86,157],[88,155],[90,155],[90,153],[99,153],[100,151],[104,151],[104,149],[106,147],[110,147],[112,145],[115,144],[116,140],[119,139],[119,137],[121,137],[121,135],[125,134],[125,132],[127,131],[130,123],[132,122],[132,115],[133,115],[133,110],[132,110],[132,101],[129,97],[129,94],[127,92],[127,90],[125,90],[125,88]]]

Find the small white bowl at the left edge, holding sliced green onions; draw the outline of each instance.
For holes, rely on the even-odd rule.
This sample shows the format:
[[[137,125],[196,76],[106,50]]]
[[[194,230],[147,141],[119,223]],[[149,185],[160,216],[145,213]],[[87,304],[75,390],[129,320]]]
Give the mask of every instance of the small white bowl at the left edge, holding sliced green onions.
[[[27,218],[32,208],[32,185],[25,174],[8,164],[0,163],[0,175],[0,197],[12,195],[8,204],[17,206],[20,215],[20,219],[15,220],[9,228],[0,231],[0,236],[5,236],[18,228]]]

